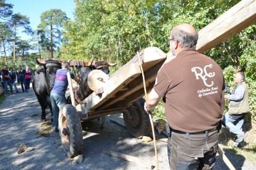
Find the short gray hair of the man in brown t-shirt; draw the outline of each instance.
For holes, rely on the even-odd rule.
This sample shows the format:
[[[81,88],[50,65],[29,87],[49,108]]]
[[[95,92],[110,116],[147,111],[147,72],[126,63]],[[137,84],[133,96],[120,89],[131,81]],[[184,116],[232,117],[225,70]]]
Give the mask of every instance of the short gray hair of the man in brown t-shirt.
[[[171,37],[176,39],[182,47],[195,48],[197,45],[198,33],[190,34],[184,30],[173,28]]]

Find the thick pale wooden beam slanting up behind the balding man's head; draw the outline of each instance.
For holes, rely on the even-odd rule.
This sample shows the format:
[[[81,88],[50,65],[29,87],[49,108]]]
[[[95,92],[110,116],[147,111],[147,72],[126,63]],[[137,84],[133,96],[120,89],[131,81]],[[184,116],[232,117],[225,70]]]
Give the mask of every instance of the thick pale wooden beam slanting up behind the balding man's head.
[[[198,31],[197,51],[205,52],[256,23],[256,0],[243,0]]]

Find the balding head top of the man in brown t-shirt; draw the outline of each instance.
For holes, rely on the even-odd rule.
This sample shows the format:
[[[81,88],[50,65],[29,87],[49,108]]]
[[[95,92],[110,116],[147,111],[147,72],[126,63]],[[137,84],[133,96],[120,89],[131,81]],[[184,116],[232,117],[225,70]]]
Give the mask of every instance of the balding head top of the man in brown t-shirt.
[[[181,47],[195,48],[197,45],[198,33],[192,25],[182,23],[173,28],[170,39],[171,38],[176,39]]]

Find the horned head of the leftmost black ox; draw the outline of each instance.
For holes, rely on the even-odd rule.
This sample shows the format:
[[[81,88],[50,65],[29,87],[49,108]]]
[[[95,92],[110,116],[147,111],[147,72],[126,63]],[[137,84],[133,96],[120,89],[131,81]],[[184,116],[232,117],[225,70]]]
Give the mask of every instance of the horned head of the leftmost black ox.
[[[53,89],[56,71],[61,68],[61,62],[59,62],[58,60],[46,60],[40,62],[37,60],[37,63],[43,66],[45,70],[44,73],[46,84],[49,88],[49,91],[51,91],[51,89]]]

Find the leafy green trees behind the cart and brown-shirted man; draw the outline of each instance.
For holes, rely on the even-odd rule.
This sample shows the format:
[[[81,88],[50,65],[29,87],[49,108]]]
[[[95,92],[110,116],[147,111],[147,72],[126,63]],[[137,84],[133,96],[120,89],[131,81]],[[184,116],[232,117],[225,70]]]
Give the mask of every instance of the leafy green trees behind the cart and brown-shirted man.
[[[190,23],[200,30],[238,2],[76,1],[75,21],[64,25],[64,38],[68,41],[61,47],[61,57],[85,60],[96,57],[116,62],[120,67],[134,57],[137,51],[149,46],[168,52],[165,40],[171,29],[179,23]],[[255,32],[255,25],[249,26],[205,52],[223,68],[225,81],[231,87],[235,85],[234,73],[244,71],[249,84],[251,110],[256,107]],[[158,105],[153,112],[163,117],[163,104]]]

